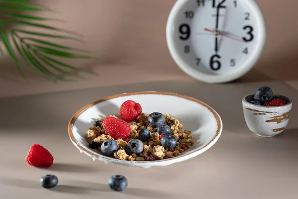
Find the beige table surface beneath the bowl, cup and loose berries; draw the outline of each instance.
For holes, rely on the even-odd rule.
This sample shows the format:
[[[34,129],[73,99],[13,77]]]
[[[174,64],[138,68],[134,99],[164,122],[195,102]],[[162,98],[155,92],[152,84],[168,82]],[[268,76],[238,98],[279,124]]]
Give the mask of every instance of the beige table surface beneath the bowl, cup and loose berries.
[[[249,131],[241,100],[259,86],[294,101],[287,129],[273,138]],[[67,126],[74,112],[100,98],[137,91],[173,92],[214,107],[224,123],[219,141],[203,154],[167,167],[105,165],[80,154]],[[297,199],[298,91],[276,82],[238,81],[208,85],[190,78],[0,99],[0,199]],[[29,166],[29,147],[39,143],[54,156],[48,169]],[[59,186],[40,187],[55,174]],[[111,192],[107,180],[122,174],[129,185]]]

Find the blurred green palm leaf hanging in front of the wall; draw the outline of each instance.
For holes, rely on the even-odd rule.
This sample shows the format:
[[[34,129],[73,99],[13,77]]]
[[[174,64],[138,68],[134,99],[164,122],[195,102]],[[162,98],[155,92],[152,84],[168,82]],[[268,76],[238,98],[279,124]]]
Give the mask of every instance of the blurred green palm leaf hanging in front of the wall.
[[[25,63],[36,73],[44,78],[54,81],[72,81],[63,76],[72,76],[76,78],[81,78],[80,76],[69,72],[69,70],[84,71],[76,68],[73,65],[64,63],[59,60],[59,58],[69,58],[69,59],[93,59],[90,56],[90,52],[82,49],[72,48],[70,46],[61,45],[60,43],[55,43],[52,41],[47,41],[46,39],[69,39],[78,42],[83,42],[78,34],[74,31],[61,29],[58,27],[50,26],[44,23],[37,23],[35,21],[43,22],[49,20],[63,21],[60,19],[53,19],[48,17],[35,16],[30,14],[30,12],[36,11],[54,11],[47,8],[46,6],[39,5],[36,3],[31,3],[27,0],[0,0],[0,42],[4,44],[5,50],[8,52],[10,57],[13,59],[16,67],[22,73],[23,67],[18,61],[17,54],[25,61]],[[25,11],[23,13],[15,13],[14,11]],[[5,17],[2,18],[1,16]],[[20,28],[10,28],[10,24],[18,24],[25,27],[35,27],[40,28],[43,32],[38,30],[31,31]],[[7,34],[7,30],[9,35]],[[56,31],[58,34],[44,33],[45,30]],[[73,36],[67,36],[64,34],[72,34]],[[10,42],[10,38],[12,42]],[[36,38],[38,37],[38,38]],[[13,49],[16,49],[14,52]],[[88,53],[85,55],[84,53]],[[3,57],[3,49],[0,48],[0,56]],[[4,57],[3,57],[4,58]],[[68,71],[64,70],[68,69]]]

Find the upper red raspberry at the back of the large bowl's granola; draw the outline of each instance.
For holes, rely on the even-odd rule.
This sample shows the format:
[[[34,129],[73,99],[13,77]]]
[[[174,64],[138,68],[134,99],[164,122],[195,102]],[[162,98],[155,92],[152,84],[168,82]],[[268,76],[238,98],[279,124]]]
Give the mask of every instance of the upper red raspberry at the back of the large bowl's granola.
[[[137,119],[141,112],[142,107],[140,103],[136,103],[133,100],[124,101],[120,106],[120,116],[125,121]]]

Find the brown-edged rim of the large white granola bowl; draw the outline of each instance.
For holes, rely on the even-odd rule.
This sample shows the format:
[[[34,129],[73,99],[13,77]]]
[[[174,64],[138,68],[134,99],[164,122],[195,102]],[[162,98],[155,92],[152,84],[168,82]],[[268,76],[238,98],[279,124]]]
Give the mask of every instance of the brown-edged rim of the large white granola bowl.
[[[183,155],[179,155],[179,156],[176,156],[176,157],[172,157],[172,158],[167,158],[167,159],[162,159],[162,160],[154,160],[154,161],[128,161],[128,160],[119,160],[119,159],[115,159],[115,158],[112,158],[112,157],[108,157],[108,156],[104,156],[104,155],[101,155],[99,153],[96,153],[96,152],[93,152],[93,151],[88,151],[86,149],[84,149],[82,146],[80,146],[80,144],[77,142],[77,140],[74,138],[74,134],[73,134],[73,125],[74,125],[74,122],[76,120],[76,118],[83,112],[85,111],[87,108],[97,104],[97,103],[100,103],[100,102],[103,102],[103,101],[106,101],[106,100],[111,100],[111,99],[114,99],[114,98],[119,98],[119,97],[124,97],[124,96],[134,96],[134,95],[166,95],[166,96],[175,96],[175,97],[179,97],[179,98],[183,98],[183,99],[186,99],[186,100],[191,100],[191,101],[194,101],[196,103],[199,103],[203,106],[205,106],[206,108],[208,108],[209,111],[211,111],[214,115],[214,117],[216,118],[216,121],[217,121],[217,132],[215,134],[215,136],[212,138],[212,140],[210,142],[208,142],[207,144],[205,144],[202,148],[199,148],[199,149],[195,149],[194,151],[192,151],[191,153],[189,154],[183,154]],[[89,154],[92,158],[95,157],[96,159],[105,159],[105,160],[109,160],[109,161],[113,161],[113,162],[123,162],[124,164],[123,165],[128,165],[129,163],[132,163],[134,162],[134,165],[133,166],[142,166],[144,164],[148,164],[148,163],[159,163],[159,162],[167,162],[167,161],[172,161],[174,159],[179,159],[181,157],[185,157],[185,156],[189,156],[191,154],[194,154],[198,151],[201,151],[201,150],[204,150],[206,147],[208,147],[214,140],[218,139],[219,136],[221,135],[222,133],[222,130],[223,130],[223,121],[220,117],[220,115],[217,113],[217,111],[215,111],[211,106],[207,105],[206,103],[200,101],[200,100],[197,100],[195,98],[191,98],[191,97],[188,97],[188,96],[183,96],[183,95],[179,95],[179,94],[174,94],[174,93],[168,93],[168,92],[155,92],[155,91],[145,91],[145,92],[132,92],[132,93],[123,93],[123,94],[118,94],[118,95],[113,95],[113,96],[109,96],[109,97],[106,97],[106,98],[102,98],[100,100],[96,100],[96,101],[93,101],[91,103],[88,103],[87,105],[83,106],[82,108],[80,108],[78,111],[76,111],[74,113],[74,115],[72,116],[72,118],[70,119],[69,121],[69,125],[68,125],[68,134],[73,142],[73,144],[75,145],[75,147],[77,149],[79,149],[80,151],[84,152],[84,153],[87,153]],[[215,144],[215,143],[214,143]],[[213,144],[213,145],[214,145]],[[211,146],[210,146],[211,147]],[[210,148],[209,147],[209,148]],[[207,148],[207,149],[209,149]],[[207,150],[206,149],[206,150]],[[204,151],[203,151],[204,152]],[[203,153],[202,152],[202,153]],[[199,154],[198,154],[199,155]],[[193,156],[195,157],[195,156]],[[191,157],[192,158],[192,157]],[[152,165],[152,166],[155,166]],[[158,164],[156,164],[158,165]]]

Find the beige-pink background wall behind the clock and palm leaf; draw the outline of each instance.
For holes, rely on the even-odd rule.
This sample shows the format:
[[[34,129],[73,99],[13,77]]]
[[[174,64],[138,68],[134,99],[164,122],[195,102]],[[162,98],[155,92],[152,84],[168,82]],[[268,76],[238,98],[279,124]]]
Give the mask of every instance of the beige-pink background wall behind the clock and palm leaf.
[[[298,80],[298,1],[257,1],[264,12],[268,34],[263,56],[250,75],[258,78],[259,74],[265,74],[268,78],[291,84]],[[94,51],[98,61],[72,60],[69,63],[92,69],[98,75],[85,75],[84,80],[59,84],[34,78],[26,84],[20,76],[9,73],[0,61],[0,97],[187,77],[173,62],[165,41],[166,20],[175,0],[35,2],[61,11],[60,14],[39,15],[68,21],[48,24],[85,36],[85,44],[67,40],[62,44]],[[8,65],[11,65],[9,60]],[[27,70],[27,74],[32,73]]]

